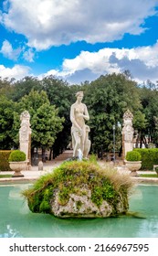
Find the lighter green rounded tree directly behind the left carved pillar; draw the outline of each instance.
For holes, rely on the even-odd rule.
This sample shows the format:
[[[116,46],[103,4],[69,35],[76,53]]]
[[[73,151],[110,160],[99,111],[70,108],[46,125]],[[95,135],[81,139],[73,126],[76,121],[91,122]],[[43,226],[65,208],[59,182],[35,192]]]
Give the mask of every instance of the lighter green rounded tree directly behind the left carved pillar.
[[[19,115],[25,110],[30,113],[32,148],[41,147],[44,155],[46,148],[54,144],[57,134],[62,130],[64,118],[58,116],[58,109],[50,104],[45,91],[32,90],[18,103],[14,126],[16,133],[19,129]]]

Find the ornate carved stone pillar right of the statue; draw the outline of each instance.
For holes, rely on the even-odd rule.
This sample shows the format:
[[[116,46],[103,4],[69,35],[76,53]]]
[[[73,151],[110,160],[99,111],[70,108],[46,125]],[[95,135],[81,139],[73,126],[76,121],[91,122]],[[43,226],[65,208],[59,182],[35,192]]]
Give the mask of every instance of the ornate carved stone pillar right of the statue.
[[[122,128],[122,153],[123,159],[128,151],[132,151],[133,149],[133,133],[134,130],[132,128],[132,119],[133,115],[130,110],[127,110],[123,114],[123,128]]]

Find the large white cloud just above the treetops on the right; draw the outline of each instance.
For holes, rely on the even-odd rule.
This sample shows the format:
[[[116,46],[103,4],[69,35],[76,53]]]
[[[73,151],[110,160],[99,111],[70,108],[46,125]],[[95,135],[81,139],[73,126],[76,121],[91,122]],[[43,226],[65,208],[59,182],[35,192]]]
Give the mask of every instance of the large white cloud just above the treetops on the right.
[[[100,75],[129,69],[135,80],[158,80],[158,42],[153,47],[102,48],[98,52],[82,51],[74,59],[65,59],[62,69],[47,71],[71,82],[94,80]]]

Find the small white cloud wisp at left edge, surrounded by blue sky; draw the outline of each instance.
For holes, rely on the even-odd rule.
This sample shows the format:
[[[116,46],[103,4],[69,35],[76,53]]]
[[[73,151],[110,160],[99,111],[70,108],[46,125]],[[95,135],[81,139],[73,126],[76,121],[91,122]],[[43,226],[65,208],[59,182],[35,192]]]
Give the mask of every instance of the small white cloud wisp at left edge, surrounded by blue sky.
[[[20,52],[21,48],[14,49],[7,40],[3,42],[2,48],[0,50],[0,53],[2,53],[5,56],[5,58],[14,60],[16,60],[19,57]]]

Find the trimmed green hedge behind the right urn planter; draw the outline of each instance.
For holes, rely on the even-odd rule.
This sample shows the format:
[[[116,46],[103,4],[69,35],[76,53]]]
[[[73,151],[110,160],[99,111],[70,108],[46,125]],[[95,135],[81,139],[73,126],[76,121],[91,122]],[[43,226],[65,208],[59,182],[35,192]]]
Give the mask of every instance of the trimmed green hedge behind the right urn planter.
[[[153,170],[158,165],[158,148],[135,148],[142,155],[142,170]]]

